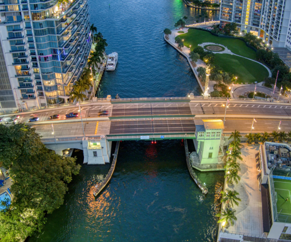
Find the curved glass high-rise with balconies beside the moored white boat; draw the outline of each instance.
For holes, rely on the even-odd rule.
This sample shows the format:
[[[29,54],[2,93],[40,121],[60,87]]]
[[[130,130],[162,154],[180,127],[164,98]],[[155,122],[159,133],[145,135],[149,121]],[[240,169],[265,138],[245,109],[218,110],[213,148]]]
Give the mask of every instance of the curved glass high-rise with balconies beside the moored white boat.
[[[20,108],[68,102],[92,44],[87,1],[0,0],[0,41]]]

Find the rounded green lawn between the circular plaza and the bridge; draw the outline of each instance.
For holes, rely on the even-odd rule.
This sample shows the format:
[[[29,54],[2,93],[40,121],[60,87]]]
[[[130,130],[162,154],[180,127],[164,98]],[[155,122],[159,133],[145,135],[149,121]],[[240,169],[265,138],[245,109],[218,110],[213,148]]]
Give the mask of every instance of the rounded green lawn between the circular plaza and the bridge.
[[[261,82],[269,73],[265,67],[255,61],[229,55],[215,54],[214,65],[219,65],[225,72],[230,72],[237,76],[237,83]]]

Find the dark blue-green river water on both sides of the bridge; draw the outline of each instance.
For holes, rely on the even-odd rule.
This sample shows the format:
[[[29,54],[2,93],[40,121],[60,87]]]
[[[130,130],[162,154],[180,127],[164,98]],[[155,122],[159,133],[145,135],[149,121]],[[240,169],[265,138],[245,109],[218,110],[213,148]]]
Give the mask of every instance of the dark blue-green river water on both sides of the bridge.
[[[91,23],[107,39],[106,52],[119,55],[116,70],[102,78],[99,97],[200,94],[186,59],[165,43],[163,30],[174,29],[184,15],[193,23],[206,11],[186,7],[182,0],[89,1]],[[73,156],[82,164],[82,151]],[[109,167],[82,165],[64,205],[48,214],[44,229],[27,241],[215,241],[224,174],[197,172],[209,189],[202,195],[189,175],[181,140],[121,142],[112,180],[95,199],[93,188]]]

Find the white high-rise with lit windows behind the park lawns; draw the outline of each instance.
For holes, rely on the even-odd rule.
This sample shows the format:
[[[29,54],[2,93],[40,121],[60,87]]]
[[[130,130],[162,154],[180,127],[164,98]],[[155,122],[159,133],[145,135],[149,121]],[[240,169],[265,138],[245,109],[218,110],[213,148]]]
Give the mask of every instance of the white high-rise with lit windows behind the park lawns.
[[[220,10],[220,28],[235,22],[270,46],[291,46],[291,0],[222,0]]]

